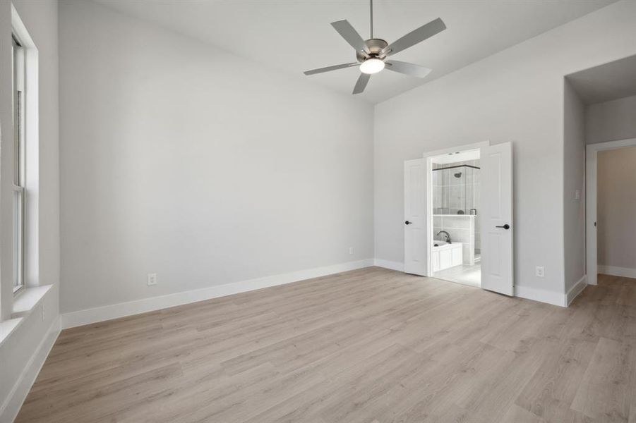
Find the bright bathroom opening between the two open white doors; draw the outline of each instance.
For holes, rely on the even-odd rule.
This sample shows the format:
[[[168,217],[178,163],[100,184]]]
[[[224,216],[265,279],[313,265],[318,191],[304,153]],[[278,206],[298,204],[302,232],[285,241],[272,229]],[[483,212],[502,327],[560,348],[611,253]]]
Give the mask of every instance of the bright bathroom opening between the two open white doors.
[[[433,277],[481,286],[479,149],[431,157]]]

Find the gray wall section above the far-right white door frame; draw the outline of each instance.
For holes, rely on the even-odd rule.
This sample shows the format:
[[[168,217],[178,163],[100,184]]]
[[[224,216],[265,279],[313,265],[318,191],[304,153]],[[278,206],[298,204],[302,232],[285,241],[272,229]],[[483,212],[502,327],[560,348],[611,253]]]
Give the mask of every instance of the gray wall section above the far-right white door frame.
[[[585,121],[587,144],[636,138],[636,96],[590,104]]]

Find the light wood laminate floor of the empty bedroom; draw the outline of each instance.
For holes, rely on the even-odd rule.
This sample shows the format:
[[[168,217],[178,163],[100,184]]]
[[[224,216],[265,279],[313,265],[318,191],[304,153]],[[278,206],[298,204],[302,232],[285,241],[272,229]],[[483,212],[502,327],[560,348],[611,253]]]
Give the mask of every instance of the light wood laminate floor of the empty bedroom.
[[[368,268],[63,331],[17,422],[636,422],[636,280]]]

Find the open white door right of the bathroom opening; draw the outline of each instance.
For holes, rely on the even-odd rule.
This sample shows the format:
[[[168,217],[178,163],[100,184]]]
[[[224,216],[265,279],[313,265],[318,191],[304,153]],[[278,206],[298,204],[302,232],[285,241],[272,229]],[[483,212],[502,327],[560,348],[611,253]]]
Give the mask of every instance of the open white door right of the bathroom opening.
[[[481,288],[513,295],[512,145],[481,149]]]

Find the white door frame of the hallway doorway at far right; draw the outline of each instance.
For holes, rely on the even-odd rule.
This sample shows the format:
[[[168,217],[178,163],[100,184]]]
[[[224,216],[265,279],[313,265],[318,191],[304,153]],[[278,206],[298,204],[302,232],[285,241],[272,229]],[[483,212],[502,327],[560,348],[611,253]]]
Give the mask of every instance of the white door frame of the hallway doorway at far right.
[[[585,147],[585,243],[587,257],[587,283],[596,285],[596,278],[599,274],[598,252],[596,251],[596,189],[598,177],[598,154],[600,151],[619,149],[624,147],[635,147],[636,138],[628,140],[598,142]]]

